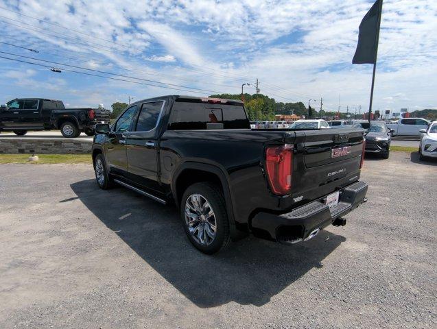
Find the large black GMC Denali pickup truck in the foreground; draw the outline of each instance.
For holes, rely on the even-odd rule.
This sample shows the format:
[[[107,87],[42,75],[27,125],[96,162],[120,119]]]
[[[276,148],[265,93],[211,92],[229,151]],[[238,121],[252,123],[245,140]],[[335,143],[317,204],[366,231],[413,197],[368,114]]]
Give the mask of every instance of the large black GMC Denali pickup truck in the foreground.
[[[137,101],[95,129],[99,187],[176,204],[206,254],[250,232],[305,241],[366,202],[363,130],[250,130],[241,101],[185,96]]]

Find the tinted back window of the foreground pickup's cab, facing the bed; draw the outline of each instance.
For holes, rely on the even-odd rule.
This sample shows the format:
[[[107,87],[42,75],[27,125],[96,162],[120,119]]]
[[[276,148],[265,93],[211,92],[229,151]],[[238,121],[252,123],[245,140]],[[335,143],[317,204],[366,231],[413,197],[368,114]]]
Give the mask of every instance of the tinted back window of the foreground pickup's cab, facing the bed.
[[[176,101],[169,130],[250,129],[243,106]]]

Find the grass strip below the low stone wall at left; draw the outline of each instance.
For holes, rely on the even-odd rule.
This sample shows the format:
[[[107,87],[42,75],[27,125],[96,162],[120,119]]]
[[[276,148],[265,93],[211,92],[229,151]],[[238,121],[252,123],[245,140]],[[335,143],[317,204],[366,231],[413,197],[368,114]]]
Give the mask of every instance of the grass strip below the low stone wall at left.
[[[38,161],[27,161],[30,154],[0,154],[0,164],[5,163],[30,163],[30,164],[55,164],[55,163],[92,163],[91,154],[41,154]]]

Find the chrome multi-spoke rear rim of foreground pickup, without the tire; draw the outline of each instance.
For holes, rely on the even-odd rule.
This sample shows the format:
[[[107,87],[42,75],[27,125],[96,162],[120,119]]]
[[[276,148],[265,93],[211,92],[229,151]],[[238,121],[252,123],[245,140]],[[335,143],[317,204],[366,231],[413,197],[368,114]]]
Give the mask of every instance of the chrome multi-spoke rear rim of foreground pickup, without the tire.
[[[217,222],[211,204],[200,194],[191,194],[185,202],[185,223],[200,245],[210,245],[215,239]]]

